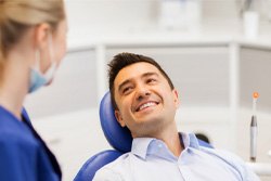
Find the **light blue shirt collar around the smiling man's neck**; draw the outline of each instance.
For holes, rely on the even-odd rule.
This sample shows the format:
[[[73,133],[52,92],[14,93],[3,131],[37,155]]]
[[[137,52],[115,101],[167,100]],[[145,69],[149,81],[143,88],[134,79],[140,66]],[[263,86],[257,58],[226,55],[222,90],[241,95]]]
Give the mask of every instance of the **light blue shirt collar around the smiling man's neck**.
[[[199,144],[198,144],[198,141],[197,141],[194,133],[181,132],[181,133],[179,133],[179,135],[181,138],[181,142],[184,145],[184,148],[193,147],[193,148],[199,150]],[[150,145],[154,141],[163,142],[163,141],[157,140],[155,138],[136,138],[136,139],[133,139],[131,153],[145,159],[149,151],[151,150]]]

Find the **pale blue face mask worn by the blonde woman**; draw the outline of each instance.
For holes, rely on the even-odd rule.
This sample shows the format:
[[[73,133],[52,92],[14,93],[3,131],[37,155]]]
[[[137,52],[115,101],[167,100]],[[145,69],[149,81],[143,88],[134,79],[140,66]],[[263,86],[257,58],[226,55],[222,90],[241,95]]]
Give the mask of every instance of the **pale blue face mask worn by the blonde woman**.
[[[54,73],[56,70],[56,63],[54,62],[54,54],[53,54],[53,49],[52,49],[52,37],[50,36],[49,37],[49,46],[50,46],[50,55],[51,55],[51,60],[52,60],[52,64],[51,64],[51,67],[46,72],[44,75],[41,74],[41,72],[39,70],[39,61],[40,61],[40,54],[39,52],[37,51],[36,52],[36,67],[35,68],[31,68],[30,69],[30,85],[29,85],[29,88],[28,88],[28,93],[31,93],[36,90],[38,90],[39,88],[48,85],[52,79],[53,79],[53,76],[54,76]]]

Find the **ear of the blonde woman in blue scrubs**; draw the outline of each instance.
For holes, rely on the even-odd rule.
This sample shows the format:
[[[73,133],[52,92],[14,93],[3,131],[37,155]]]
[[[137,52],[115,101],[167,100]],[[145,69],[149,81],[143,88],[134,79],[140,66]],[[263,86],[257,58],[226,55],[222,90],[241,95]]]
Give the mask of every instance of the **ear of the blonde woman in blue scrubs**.
[[[42,23],[36,27],[36,29],[35,29],[35,44],[39,49],[48,48],[48,43],[49,43],[48,37],[51,34],[50,30],[51,30],[51,27],[48,23]]]

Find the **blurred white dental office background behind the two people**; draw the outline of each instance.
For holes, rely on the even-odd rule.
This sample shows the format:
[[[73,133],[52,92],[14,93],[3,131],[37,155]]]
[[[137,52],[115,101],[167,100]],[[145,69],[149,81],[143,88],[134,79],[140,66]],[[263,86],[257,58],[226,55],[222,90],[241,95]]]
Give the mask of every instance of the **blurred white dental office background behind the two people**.
[[[205,134],[271,180],[271,0],[65,2],[67,54],[53,83],[25,103],[64,181],[88,158],[112,148],[99,105],[108,91],[106,64],[120,52],[154,57],[169,74],[180,93],[180,131]],[[253,115],[255,163],[249,159]]]

